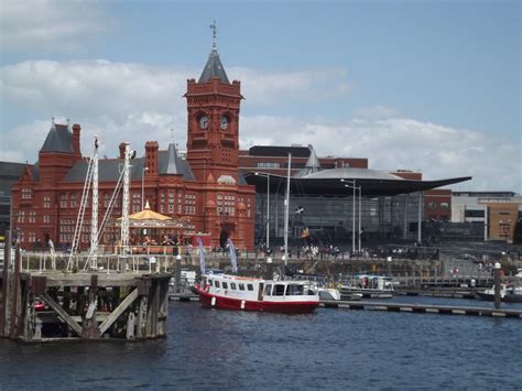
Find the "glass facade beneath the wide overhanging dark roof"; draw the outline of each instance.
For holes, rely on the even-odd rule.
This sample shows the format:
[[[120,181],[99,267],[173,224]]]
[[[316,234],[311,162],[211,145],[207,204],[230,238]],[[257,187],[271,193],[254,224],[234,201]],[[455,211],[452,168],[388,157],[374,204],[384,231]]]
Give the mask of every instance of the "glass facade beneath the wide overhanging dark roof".
[[[355,200],[355,205],[354,205]],[[420,195],[380,196],[291,196],[289,214],[289,242],[309,232],[312,241],[349,243],[351,232],[359,230],[361,239],[415,239],[417,237]],[[421,200],[422,203],[422,200]],[[301,210],[297,213],[297,210]],[[421,211],[422,213],[422,211]],[[307,228],[307,230],[305,230]],[[265,241],[267,194],[255,198],[255,240]],[[270,194],[270,240],[284,238],[284,196]]]

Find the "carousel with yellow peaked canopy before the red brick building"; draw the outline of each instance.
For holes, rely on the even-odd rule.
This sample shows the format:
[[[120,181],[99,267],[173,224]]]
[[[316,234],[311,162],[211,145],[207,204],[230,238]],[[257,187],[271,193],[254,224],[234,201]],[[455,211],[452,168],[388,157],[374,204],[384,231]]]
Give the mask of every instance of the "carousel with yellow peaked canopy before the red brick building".
[[[121,218],[118,219],[121,224]],[[129,247],[132,253],[173,253],[192,245],[194,225],[187,219],[172,218],[151,209],[129,215]]]

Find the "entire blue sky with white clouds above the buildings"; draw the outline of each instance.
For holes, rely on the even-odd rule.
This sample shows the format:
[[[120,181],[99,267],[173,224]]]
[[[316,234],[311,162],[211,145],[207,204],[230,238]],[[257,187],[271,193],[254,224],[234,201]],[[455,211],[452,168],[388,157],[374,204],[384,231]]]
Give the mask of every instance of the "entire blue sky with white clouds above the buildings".
[[[81,150],[186,148],[188,78],[217,48],[241,82],[240,146],[312,144],[454,191],[522,193],[521,2],[0,0],[0,161],[52,126]]]

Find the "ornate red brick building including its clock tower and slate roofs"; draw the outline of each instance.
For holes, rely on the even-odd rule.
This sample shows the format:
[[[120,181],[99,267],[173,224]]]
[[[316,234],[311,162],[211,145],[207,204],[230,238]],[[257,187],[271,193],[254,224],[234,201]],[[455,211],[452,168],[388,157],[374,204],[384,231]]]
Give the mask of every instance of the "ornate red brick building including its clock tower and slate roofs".
[[[141,210],[146,199],[152,209],[186,219],[196,232],[209,233],[213,247],[230,237],[236,247],[251,248],[255,188],[238,170],[241,85],[228,80],[215,47],[199,80],[187,80],[185,98],[187,159],[178,156],[173,143],[160,150],[156,141],[146,142],[144,155],[131,162],[129,210]],[[79,124],[69,129],[68,124],[53,123],[37,162],[28,165],[13,185],[13,228],[22,248],[50,238],[56,246],[73,241],[88,166],[80,152],[80,131]],[[138,145],[131,142],[130,146]],[[100,216],[109,206],[123,156],[124,143],[118,159],[99,161]],[[121,195],[112,216],[121,216]],[[80,236],[84,249],[90,240],[89,207],[85,219]],[[100,243],[115,242],[118,237],[118,227],[106,229]]]

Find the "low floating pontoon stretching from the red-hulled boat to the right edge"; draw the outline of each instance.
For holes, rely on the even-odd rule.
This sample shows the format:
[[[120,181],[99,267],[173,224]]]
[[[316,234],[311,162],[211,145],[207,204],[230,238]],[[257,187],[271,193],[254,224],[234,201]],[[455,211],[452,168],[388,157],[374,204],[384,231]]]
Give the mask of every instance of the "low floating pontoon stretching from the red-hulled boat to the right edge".
[[[373,309],[402,313],[470,315],[522,318],[521,309],[496,309],[485,307],[464,307],[453,305],[407,304],[407,303],[379,303],[379,302],[350,302],[325,301],[320,302],[325,308]]]

